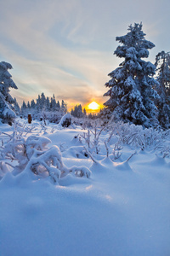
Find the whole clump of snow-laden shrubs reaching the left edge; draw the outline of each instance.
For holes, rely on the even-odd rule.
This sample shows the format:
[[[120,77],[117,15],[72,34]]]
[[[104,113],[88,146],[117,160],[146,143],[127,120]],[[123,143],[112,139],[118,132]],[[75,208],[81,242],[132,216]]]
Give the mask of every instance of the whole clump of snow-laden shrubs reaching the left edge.
[[[31,135],[26,138],[22,128],[16,126],[12,135],[6,135],[8,139],[0,147],[0,177],[9,171],[14,176],[20,172],[33,172],[38,177],[50,177],[53,183],[58,183],[59,178],[68,173],[77,177],[90,176],[91,172],[85,166],[67,168],[59,148],[48,148],[48,143],[51,143],[48,137]]]

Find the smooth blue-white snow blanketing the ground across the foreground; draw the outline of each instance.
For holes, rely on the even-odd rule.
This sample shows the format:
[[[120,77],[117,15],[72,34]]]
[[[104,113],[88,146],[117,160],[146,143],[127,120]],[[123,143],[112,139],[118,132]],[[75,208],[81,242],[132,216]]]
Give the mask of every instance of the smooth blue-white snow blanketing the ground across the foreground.
[[[68,169],[85,166],[91,176],[69,173],[54,184],[29,172],[14,176],[10,167],[6,174],[1,171],[0,255],[170,255],[170,159],[155,146],[142,150],[122,142],[122,155],[116,160],[112,150],[118,136],[113,133],[104,143],[111,131],[101,132],[95,154],[81,127],[46,128],[35,123],[26,137],[48,137],[48,146],[60,148]],[[8,134],[13,129],[0,125]],[[0,138],[5,144],[7,136],[2,133]]]

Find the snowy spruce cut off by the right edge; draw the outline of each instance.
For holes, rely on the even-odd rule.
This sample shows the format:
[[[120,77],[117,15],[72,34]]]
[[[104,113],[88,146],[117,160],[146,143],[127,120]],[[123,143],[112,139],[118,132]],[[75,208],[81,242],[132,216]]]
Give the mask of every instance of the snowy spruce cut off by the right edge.
[[[158,102],[159,122],[165,129],[170,127],[170,53],[161,51],[156,55],[156,91],[161,101]]]

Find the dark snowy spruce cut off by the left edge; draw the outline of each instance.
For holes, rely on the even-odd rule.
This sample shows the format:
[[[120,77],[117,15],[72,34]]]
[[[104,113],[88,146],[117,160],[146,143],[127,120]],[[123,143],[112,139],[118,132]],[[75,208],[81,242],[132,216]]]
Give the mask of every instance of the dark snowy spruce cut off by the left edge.
[[[9,94],[9,88],[18,89],[14,81],[11,79],[12,76],[8,73],[8,69],[13,67],[8,62],[0,62],[0,119],[3,123],[11,124],[15,117],[14,99]]]

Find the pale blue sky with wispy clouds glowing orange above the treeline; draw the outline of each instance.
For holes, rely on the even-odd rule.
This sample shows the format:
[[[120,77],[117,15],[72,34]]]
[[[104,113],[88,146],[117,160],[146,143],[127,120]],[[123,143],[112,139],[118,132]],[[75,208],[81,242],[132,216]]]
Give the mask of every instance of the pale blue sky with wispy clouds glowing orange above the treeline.
[[[117,36],[143,23],[156,45],[148,61],[170,51],[169,0],[0,0],[0,61],[7,61],[21,104],[42,92],[68,108],[107,101],[105,83],[122,62]]]

